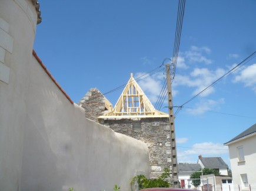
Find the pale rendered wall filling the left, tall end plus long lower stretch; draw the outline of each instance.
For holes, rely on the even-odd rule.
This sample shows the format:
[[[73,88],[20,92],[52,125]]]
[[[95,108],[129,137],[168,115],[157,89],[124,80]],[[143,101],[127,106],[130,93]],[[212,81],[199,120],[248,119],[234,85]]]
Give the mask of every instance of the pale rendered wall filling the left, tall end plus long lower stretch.
[[[36,18],[31,0],[0,1],[0,190],[130,190],[147,145],[69,102],[32,56]]]

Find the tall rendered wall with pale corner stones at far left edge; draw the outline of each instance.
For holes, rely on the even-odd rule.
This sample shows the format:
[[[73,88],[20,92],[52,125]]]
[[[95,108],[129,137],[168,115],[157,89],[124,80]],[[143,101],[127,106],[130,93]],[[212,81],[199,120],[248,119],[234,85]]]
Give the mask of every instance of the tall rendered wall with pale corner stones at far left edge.
[[[0,190],[20,190],[36,18],[32,1],[0,1]]]

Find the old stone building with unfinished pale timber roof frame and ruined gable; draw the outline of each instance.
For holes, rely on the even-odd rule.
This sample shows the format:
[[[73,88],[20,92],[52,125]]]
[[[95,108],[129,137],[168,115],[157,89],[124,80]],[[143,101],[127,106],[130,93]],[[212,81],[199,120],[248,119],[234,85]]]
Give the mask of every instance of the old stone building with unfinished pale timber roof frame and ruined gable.
[[[145,142],[151,177],[161,175],[165,167],[170,168],[169,115],[155,110],[132,74],[114,108],[97,88],[91,88],[78,105],[85,109],[87,118]]]

